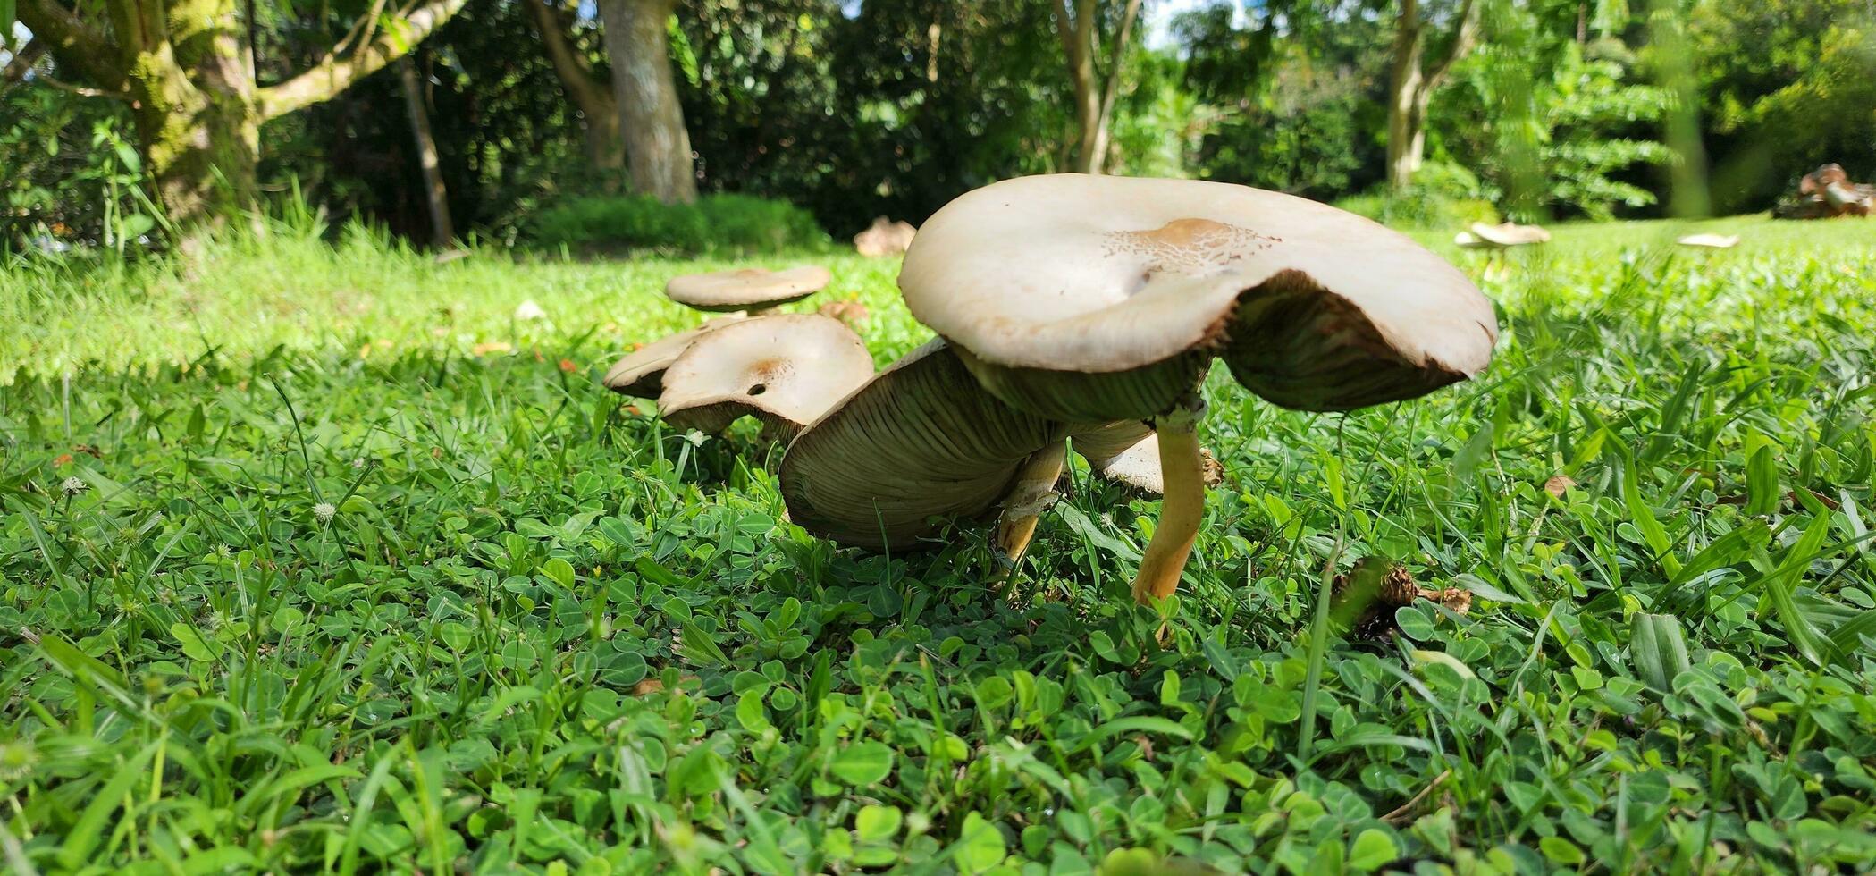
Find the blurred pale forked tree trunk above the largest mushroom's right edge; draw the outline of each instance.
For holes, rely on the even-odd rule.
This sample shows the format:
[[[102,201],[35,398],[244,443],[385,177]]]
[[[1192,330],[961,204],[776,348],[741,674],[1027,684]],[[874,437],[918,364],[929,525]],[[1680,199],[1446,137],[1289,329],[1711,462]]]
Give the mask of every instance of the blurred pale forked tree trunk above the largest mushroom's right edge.
[[[1426,109],[1452,66],[1478,43],[1480,0],[1456,9],[1398,0],[1394,62],[1388,77],[1388,184],[1413,184],[1426,156]]]

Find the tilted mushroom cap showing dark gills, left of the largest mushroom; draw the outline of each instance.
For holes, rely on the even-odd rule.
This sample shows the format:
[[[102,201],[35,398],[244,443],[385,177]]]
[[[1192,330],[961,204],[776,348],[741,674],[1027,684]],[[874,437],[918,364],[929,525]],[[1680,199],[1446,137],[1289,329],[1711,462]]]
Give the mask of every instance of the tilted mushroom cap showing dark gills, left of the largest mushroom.
[[[912,548],[932,518],[974,518],[1066,426],[987,394],[955,351],[906,355],[803,430],[782,456],[788,518],[824,538]]]

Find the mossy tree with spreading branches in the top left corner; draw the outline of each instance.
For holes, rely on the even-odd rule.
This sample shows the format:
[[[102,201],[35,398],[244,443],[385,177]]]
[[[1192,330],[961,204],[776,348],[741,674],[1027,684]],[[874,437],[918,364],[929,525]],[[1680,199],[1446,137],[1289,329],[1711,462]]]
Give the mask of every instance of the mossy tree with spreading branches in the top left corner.
[[[171,221],[189,227],[253,203],[265,122],[400,58],[463,2],[383,13],[379,0],[311,69],[268,86],[257,83],[253,32],[234,0],[113,0],[103,4],[107,24],[56,0],[19,0],[17,9],[62,69],[129,101],[158,199]]]

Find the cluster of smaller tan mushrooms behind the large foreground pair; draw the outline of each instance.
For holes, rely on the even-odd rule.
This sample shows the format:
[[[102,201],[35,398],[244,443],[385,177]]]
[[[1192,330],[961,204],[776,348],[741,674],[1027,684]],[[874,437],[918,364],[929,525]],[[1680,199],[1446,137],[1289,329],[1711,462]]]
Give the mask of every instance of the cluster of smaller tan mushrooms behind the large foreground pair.
[[[673,278],[673,302],[724,313],[647,343],[606,373],[606,386],[655,398],[658,416],[683,430],[722,431],[743,416],[790,437],[835,400],[872,377],[872,355],[839,319],[816,313],[754,315],[814,295],[825,268],[726,270]]]

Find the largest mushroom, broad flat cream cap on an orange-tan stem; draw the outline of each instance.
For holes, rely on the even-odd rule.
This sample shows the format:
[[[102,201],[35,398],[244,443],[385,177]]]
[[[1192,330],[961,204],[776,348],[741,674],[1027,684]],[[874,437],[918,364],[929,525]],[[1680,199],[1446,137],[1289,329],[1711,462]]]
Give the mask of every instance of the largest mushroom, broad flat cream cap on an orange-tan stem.
[[[1204,512],[1195,426],[1212,358],[1278,405],[1349,411],[1469,379],[1497,341],[1491,304],[1407,236],[1216,182],[998,182],[919,229],[899,285],[1011,409],[1152,422],[1165,503],[1133,581],[1141,602],[1174,593]],[[1021,448],[998,450],[1007,461]],[[870,495],[917,495],[899,486]]]

